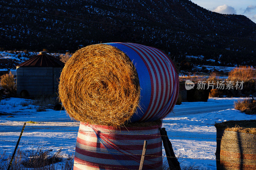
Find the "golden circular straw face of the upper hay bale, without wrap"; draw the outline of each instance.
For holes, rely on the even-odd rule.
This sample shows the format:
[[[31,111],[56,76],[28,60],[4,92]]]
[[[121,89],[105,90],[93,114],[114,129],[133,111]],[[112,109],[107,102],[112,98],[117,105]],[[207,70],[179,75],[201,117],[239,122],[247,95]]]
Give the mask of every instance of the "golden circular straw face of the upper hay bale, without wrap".
[[[119,127],[136,114],[139,78],[124,52],[106,44],[90,45],[65,64],[59,94],[73,119]]]

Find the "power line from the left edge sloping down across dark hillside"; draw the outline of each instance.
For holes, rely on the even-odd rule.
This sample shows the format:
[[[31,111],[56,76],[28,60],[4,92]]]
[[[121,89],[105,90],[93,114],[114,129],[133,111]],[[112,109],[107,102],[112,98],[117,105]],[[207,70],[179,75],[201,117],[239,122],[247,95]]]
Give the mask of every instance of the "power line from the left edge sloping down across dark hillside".
[[[246,38],[246,37],[230,37],[230,36],[221,36],[221,35],[209,35],[209,34],[197,34],[197,33],[185,33],[185,32],[179,32],[179,31],[171,31],[171,30],[160,30],[160,29],[154,29],[154,28],[144,28],[140,26],[128,26],[128,25],[121,25],[121,24],[114,24],[114,23],[107,23],[107,22],[100,22],[100,21],[92,21],[92,20],[87,20],[87,19],[79,19],[79,18],[72,18],[72,17],[63,17],[63,16],[58,16],[58,15],[53,15],[53,14],[45,14],[41,12],[35,12],[35,11],[28,11],[28,10],[21,10],[21,9],[14,9],[12,7],[3,7],[0,6],[1,8],[5,9],[13,9],[13,10],[18,10],[18,11],[25,11],[25,12],[32,12],[36,14],[41,14],[41,15],[48,15],[48,16],[54,16],[54,17],[60,17],[60,18],[67,18],[67,19],[74,19],[74,20],[80,20],[80,21],[86,21],[86,22],[92,22],[92,23],[98,23],[98,24],[108,24],[108,25],[115,25],[115,26],[124,26],[124,27],[131,27],[131,28],[137,28],[137,29],[146,29],[146,30],[153,30],[153,31],[161,31],[161,32],[170,32],[170,33],[179,33],[179,34],[190,34],[190,35],[197,35],[197,36],[210,36],[210,37],[223,37],[223,38],[233,38],[233,39],[248,39],[248,40],[256,40],[253,38]]]

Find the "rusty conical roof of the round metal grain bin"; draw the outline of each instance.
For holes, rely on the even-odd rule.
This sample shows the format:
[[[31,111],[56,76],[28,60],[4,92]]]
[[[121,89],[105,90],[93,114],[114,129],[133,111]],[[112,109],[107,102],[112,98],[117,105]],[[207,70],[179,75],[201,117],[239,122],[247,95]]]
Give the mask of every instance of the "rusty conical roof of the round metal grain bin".
[[[20,63],[18,67],[64,67],[65,63],[57,60],[56,58],[48,55],[46,52],[40,52],[38,55],[30,58],[29,60]]]

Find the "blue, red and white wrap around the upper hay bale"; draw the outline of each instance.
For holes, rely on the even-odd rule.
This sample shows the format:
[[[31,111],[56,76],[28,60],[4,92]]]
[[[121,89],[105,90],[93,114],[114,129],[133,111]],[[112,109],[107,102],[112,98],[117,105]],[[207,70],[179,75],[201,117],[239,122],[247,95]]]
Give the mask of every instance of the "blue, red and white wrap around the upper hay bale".
[[[140,108],[131,122],[155,121],[168,115],[179,94],[174,63],[161,50],[134,43],[106,43],[123,51],[135,66],[140,82]]]

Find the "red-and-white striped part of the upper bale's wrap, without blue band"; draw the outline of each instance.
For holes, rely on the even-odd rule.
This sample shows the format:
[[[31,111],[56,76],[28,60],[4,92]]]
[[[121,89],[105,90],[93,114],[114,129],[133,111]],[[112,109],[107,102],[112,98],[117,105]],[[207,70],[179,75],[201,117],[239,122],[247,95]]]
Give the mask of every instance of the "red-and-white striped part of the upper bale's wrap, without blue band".
[[[139,121],[164,118],[172,111],[179,94],[179,76],[174,63],[159,49],[134,43],[120,44],[129,47],[140,56],[150,76],[151,94],[148,96],[150,101]],[[139,65],[136,65],[136,69],[140,69]],[[143,80],[140,79],[140,84],[143,83],[141,81]],[[143,103],[143,105],[146,104]]]

